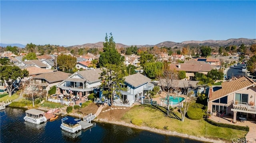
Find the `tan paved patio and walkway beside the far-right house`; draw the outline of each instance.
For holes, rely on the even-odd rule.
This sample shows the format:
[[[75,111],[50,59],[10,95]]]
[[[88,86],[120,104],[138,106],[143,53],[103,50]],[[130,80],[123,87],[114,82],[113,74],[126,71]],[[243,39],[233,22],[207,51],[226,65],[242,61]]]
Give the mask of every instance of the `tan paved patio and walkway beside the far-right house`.
[[[230,120],[233,118],[231,118],[230,116],[219,117],[218,114],[216,116],[211,116],[210,119],[212,119],[215,122],[220,122],[220,123],[248,126],[249,131],[246,135],[246,141],[247,141],[247,143],[256,143],[256,121],[245,121],[244,123],[243,122],[232,123]]]

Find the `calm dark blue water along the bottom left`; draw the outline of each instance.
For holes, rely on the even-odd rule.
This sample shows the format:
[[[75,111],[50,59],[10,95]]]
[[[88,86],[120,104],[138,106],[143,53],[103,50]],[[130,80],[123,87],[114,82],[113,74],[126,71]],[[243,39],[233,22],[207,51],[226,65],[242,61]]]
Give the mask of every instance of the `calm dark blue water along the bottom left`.
[[[72,134],[60,129],[60,117],[40,125],[25,122],[21,108],[6,108],[0,116],[1,143],[202,143],[109,123]]]

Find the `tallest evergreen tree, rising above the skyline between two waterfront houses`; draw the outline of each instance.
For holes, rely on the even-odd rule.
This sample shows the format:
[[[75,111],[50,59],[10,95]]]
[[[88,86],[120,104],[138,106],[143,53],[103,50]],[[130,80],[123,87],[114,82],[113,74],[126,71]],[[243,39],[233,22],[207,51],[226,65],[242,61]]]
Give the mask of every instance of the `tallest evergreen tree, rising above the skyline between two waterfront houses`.
[[[114,96],[121,96],[120,91],[125,91],[124,76],[125,66],[124,57],[116,50],[116,43],[114,42],[112,33],[110,39],[106,34],[105,42],[103,43],[103,52],[100,53],[99,64],[102,73],[100,73],[100,80],[102,84],[102,94],[110,98],[111,106],[113,106]]]

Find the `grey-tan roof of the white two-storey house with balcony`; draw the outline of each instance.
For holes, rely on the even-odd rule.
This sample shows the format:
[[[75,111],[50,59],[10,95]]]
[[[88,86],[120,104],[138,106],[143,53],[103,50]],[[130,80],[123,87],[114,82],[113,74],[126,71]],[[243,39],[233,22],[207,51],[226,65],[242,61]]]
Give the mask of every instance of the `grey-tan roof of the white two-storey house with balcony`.
[[[100,68],[90,69],[85,71],[78,71],[77,73],[84,77],[84,79],[88,80],[88,82],[94,82],[100,80],[100,73],[102,71]]]

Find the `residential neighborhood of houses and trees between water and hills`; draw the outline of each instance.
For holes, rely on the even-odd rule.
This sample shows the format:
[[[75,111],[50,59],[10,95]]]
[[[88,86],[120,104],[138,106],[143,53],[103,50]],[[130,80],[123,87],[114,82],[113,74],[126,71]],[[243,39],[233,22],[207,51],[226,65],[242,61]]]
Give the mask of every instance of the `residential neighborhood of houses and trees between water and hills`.
[[[250,66],[248,61],[254,55],[245,58],[240,54],[223,56],[222,53],[212,53],[193,58],[168,53],[125,55],[112,52],[111,57],[107,57],[106,53],[35,54],[34,59],[26,59],[26,54],[17,56],[4,51],[1,66],[16,66],[20,73],[27,71],[28,74],[26,77],[17,76],[12,82],[14,88],[10,89],[1,76],[0,91],[14,94],[22,90],[20,96],[27,100],[31,100],[29,97],[34,94],[36,99],[44,98],[45,102],[67,107],[82,107],[82,104],[92,101],[98,107],[104,105],[113,109],[136,105],[160,106],[169,113],[177,109],[183,119],[186,115],[188,119],[205,118],[249,127],[246,139],[255,138],[251,135],[256,123],[254,73],[246,69],[241,76],[237,76],[237,72],[230,77],[229,72],[232,66],[237,70]],[[115,64],[113,59],[116,59]],[[105,66],[99,66],[101,63]],[[201,109],[204,112],[200,117],[192,117],[188,112],[197,104],[207,108]],[[184,109],[188,110],[185,114]]]

